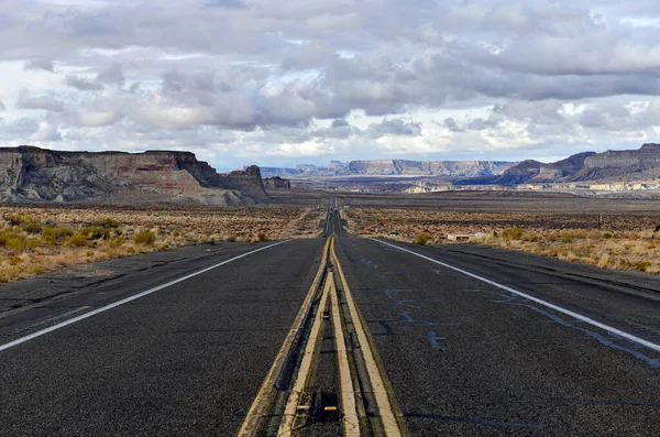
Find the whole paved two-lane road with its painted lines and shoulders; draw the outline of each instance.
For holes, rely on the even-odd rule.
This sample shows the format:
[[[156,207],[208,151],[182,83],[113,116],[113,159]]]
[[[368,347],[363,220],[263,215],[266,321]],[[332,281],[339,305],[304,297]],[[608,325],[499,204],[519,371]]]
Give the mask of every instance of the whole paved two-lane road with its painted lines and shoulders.
[[[657,277],[324,225],[1,313],[0,435],[660,435]]]

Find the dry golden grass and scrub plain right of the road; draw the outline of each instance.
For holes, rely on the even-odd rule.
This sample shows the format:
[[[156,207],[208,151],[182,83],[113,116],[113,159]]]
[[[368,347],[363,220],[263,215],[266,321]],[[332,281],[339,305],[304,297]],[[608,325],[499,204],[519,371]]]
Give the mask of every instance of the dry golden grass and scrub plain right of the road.
[[[603,269],[660,273],[660,216],[455,212],[351,208],[342,211],[353,234],[447,243],[450,233],[485,233],[471,242],[583,262]],[[428,238],[427,238],[428,237]],[[424,241],[422,241],[424,240]]]

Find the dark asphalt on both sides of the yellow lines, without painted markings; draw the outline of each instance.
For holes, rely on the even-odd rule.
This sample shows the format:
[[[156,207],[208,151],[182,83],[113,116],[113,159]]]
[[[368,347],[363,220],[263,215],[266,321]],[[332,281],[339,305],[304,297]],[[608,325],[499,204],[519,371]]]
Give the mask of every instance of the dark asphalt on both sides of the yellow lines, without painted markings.
[[[324,243],[265,249],[0,351],[0,435],[234,435]],[[2,285],[0,345],[267,244]],[[660,342],[657,276],[400,245]],[[340,238],[337,254],[413,436],[660,435],[659,353],[377,241]]]

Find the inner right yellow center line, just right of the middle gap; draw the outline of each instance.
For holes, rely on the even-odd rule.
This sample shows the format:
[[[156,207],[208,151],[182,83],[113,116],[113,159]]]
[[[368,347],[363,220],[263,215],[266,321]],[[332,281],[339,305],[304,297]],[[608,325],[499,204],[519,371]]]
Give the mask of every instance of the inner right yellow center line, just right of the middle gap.
[[[328,281],[332,283],[332,325],[334,327],[337,361],[339,362],[339,385],[341,390],[341,406],[343,409],[342,420],[344,437],[360,437],[360,419],[358,418],[358,407],[355,406],[355,390],[353,387],[353,379],[351,378],[349,353],[346,351],[341,313],[339,310],[339,298],[337,296],[332,273],[328,275]],[[326,409],[328,409],[328,407],[326,407]]]

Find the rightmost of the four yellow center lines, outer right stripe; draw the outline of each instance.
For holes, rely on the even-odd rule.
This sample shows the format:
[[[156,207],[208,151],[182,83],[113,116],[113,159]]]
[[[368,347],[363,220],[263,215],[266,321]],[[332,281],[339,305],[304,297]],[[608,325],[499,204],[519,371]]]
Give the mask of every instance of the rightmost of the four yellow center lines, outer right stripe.
[[[373,345],[367,339],[366,328],[362,324],[362,318],[358,313],[358,306],[355,305],[355,301],[353,299],[353,294],[349,288],[349,284],[341,269],[341,264],[339,263],[339,259],[334,253],[334,239],[332,240],[332,243],[330,245],[330,253],[332,254],[332,259],[337,267],[337,273],[339,274],[339,277],[341,280],[344,295],[346,296],[346,303],[349,305],[351,318],[353,319],[355,332],[358,334],[358,340],[362,345],[362,354],[364,357],[366,372],[369,373],[369,379],[372,383],[374,397],[376,398],[376,404],[381,416],[381,420],[383,422],[385,435],[387,437],[403,437],[404,434],[402,433],[402,429],[398,426],[396,415],[394,414],[394,407],[389,400],[387,385],[385,384],[384,378],[381,374],[378,365],[376,364],[374,353],[372,352]]]

